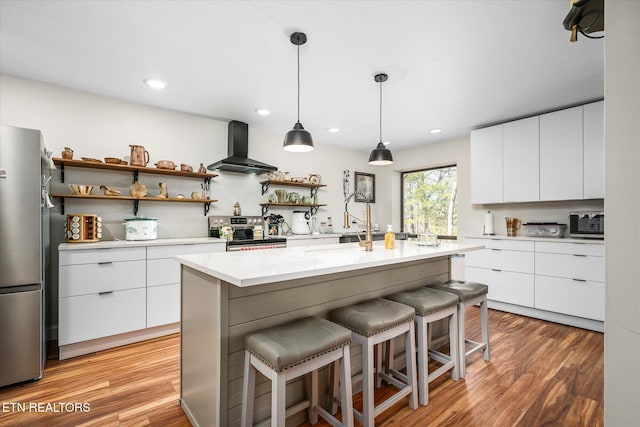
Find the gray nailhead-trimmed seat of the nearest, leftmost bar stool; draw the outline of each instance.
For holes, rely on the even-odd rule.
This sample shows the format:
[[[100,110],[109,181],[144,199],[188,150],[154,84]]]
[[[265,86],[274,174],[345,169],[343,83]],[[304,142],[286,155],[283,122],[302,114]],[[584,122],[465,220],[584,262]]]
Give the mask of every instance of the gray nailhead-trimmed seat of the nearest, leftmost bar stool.
[[[350,343],[350,330],[308,317],[255,332],[247,337],[245,348],[280,372]]]

